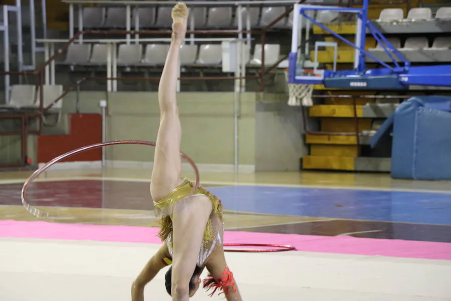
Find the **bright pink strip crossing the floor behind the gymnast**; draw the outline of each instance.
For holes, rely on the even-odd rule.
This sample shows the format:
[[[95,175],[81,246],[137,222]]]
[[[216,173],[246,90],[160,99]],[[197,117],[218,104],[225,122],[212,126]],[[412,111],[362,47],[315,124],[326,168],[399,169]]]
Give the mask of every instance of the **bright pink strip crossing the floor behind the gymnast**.
[[[140,242],[160,244],[158,228],[0,221],[0,237]],[[368,256],[451,260],[451,243],[311,236],[253,232],[224,232],[225,243],[289,244],[298,251]]]

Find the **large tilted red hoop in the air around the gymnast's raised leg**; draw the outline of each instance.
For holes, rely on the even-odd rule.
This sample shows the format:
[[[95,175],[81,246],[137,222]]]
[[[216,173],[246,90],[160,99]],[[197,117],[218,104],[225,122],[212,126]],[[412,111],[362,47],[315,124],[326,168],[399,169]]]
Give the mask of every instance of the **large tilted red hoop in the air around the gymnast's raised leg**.
[[[38,178],[39,175],[41,175],[44,171],[46,171],[49,167],[51,167],[52,165],[54,165],[55,163],[57,163],[57,162],[59,162],[59,161],[61,161],[63,159],[66,159],[68,157],[74,156],[75,154],[78,154],[78,153],[86,152],[86,150],[89,150],[89,149],[95,149],[95,148],[99,148],[99,147],[110,146],[110,145],[117,145],[117,144],[141,144],[141,145],[155,146],[155,142],[139,141],[139,140],[137,140],[137,141],[134,141],[134,140],[122,140],[122,141],[111,141],[111,142],[96,143],[96,144],[86,145],[86,146],[83,146],[83,147],[71,150],[70,152],[68,152],[66,154],[63,154],[61,156],[58,156],[58,157],[52,159],[46,165],[44,165],[43,167],[41,167],[38,170],[36,170],[30,176],[30,178],[28,178],[27,181],[25,181],[24,186],[22,187],[22,192],[21,192],[22,205],[24,205],[24,207],[28,210],[28,212],[30,212],[31,214],[33,214],[37,218],[46,218],[46,219],[56,219],[56,218],[58,218],[58,216],[51,217],[49,212],[46,212],[44,210],[35,208],[35,207],[33,207],[32,205],[30,205],[27,202],[27,190],[28,190],[28,187],[30,186],[30,184],[36,178]],[[197,169],[197,166],[195,165],[194,161],[191,160],[191,158],[189,158],[188,156],[186,156],[185,154],[183,154],[181,152],[180,152],[180,155],[194,169],[194,174],[196,176],[196,180],[194,182],[193,192],[195,192],[197,190],[197,188],[199,187],[199,170]]]

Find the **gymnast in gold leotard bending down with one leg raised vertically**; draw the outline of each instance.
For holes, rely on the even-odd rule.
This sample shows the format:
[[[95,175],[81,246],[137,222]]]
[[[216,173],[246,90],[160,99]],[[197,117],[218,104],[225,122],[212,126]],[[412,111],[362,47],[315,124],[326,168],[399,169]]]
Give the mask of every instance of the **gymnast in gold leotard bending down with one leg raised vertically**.
[[[188,14],[183,3],[172,9],[171,44],[158,87],[160,127],[150,194],[160,217],[158,236],[164,244],[133,282],[132,301],[143,301],[144,286],[170,264],[165,280],[172,300],[185,301],[192,297],[206,267],[210,275],[203,281],[203,287],[212,289],[210,295],[218,290],[229,301],[241,301],[233,273],[225,262],[221,202],[202,187],[193,193],[194,184],[180,176],[181,125],[175,87]]]

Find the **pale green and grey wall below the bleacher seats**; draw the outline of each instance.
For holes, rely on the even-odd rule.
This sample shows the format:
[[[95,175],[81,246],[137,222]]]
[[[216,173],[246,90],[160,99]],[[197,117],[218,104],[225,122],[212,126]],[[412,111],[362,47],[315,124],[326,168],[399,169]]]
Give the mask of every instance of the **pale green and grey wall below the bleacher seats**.
[[[239,117],[239,164],[243,171],[289,171],[299,169],[306,153],[301,111],[286,105],[285,94],[242,93]],[[63,113],[76,112],[76,93],[65,97]],[[79,94],[80,113],[101,113],[99,101],[108,101],[107,140],[155,141],[159,108],[155,92],[91,92]],[[177,95],[182,123],[181,149],[197,164],[212,170],[232,170],[234,164],[234,93],[183,92]],[[69,130],[69,129],[67,129]],[[0,145],[15,137],[0,137]],[[16,137],[18,139],[18,137]],[[29,153],[34,156],[33,137]],[[9,142],[0,149],[0,160],[19,154],[20,144]],[[33,157],[32,157],[33,158]],[[106,148],[106,160],[153,161],[153,148],[118,145]],[[34,161],[35,162],[35,161]]]

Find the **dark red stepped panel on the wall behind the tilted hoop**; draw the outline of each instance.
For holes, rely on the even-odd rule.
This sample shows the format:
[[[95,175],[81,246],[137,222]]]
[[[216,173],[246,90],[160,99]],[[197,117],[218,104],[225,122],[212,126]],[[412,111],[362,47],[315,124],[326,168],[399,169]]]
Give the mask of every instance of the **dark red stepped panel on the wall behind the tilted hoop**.
[[[71,114],[69,117],[71,127],[68,135],[38,136],[38,163],[49,162],[70,150],[102,142],[102,115]],[[100,160],[102,160],[102,148],[87,150],[66,158],[62,162]]]

